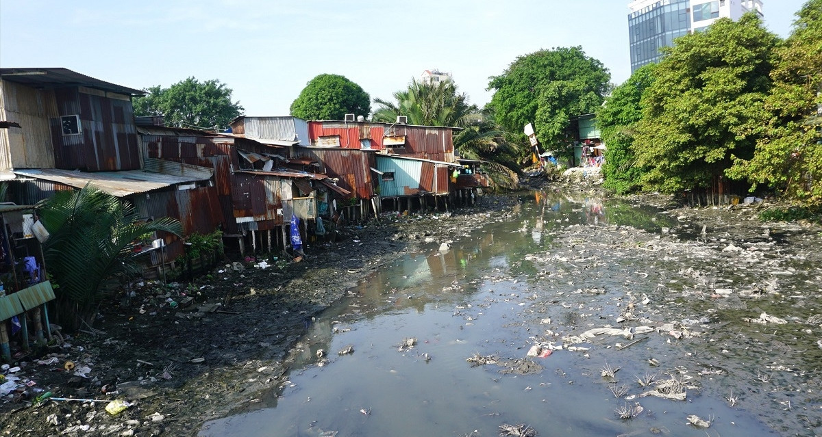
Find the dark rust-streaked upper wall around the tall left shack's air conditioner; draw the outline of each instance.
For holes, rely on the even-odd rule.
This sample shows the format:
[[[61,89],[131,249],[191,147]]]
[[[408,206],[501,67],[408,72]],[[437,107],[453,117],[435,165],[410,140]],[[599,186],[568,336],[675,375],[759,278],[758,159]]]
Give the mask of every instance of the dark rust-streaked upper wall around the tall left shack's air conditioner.
[[[78,115],[80,135],[62,135],[52,118],[54,167],[87,172],[140,169],[131,97],[85,87],[54,91],[58,115]]]

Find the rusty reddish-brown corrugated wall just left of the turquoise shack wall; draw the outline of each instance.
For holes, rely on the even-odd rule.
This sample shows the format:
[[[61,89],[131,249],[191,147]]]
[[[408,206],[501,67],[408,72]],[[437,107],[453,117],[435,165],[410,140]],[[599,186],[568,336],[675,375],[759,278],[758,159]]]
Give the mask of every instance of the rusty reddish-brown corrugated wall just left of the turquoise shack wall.
[[[317,149],[295,147],[296,158],[316,160],[321,171],[339,179],[337,185],[351,191],[351,197],[371,199],[374,196],[371,168],[376,164],[372,152],[354,149]]]

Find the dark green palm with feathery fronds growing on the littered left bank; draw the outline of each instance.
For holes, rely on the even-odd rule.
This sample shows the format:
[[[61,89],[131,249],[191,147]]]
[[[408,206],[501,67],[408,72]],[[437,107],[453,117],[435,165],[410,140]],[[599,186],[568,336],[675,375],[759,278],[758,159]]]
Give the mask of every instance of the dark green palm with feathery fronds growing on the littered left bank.
[[[58,318],[69,329],[91,325],[120,276],[136,272],[132,242],[152,232],[182,234],[175,219],[138,222],[132,204],[92,186],[58,191],[38,214],[50,234],[44,257],[59,286]]]

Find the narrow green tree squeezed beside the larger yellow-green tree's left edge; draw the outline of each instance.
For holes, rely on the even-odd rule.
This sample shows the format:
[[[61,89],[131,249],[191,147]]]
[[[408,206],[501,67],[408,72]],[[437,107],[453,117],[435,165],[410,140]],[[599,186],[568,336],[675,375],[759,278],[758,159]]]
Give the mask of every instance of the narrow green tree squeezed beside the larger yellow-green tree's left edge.
[[[603,186],[619,194],[639,189],[641,177],[647,171],[635,165],[636,157],[630,146],[634,143],[636,123],[642,119],[642,94],[653,85],[656,66],[648,64],[634,71],[628,80],[613,90],[597,112],[597,123],[607,147]]]

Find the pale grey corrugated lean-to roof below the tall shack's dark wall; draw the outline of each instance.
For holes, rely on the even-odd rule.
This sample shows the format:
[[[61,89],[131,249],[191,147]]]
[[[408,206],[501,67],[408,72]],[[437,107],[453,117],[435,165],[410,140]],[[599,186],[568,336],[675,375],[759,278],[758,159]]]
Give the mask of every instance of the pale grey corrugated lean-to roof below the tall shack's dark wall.
[[[162,173],[145,172],[143,170],[127,170],[122,172],[72,172],[57,168],[21,169],[14,173],[24,177],[34,177],[46,181],[60,182],[67,186],[82,188],[91,184],[101,191],[113,196],[125,197],[145,191],[157,190],[179,183],[202,181],[203,178],[172,176]],[[206,177],[208,179],[210,177]]]

